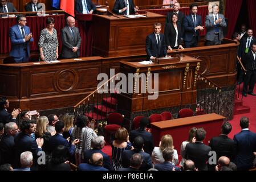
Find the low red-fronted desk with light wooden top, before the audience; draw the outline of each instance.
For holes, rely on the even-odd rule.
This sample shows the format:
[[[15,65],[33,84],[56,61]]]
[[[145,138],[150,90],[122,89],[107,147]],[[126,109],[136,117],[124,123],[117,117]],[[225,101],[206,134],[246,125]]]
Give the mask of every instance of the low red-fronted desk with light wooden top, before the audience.
[[[221,133],[224,119],[222,115],[213,113],[151,123],[155,146],[159,146],[163,135],[170,134],[173,138],[173,145],[180,155],[181,143],[188,139],[189,130],[192,127],[204,127],[206,131],[204,143],[208,145],[211,138]]]

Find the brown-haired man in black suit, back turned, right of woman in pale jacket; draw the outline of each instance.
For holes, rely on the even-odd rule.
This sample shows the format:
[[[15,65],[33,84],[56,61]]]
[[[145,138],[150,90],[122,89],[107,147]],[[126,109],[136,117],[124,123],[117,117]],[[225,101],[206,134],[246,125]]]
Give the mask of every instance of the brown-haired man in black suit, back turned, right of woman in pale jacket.
[[[196,142],[186,144],[184,156],[185,159],[190,159],[196,165],[199,171],[208,171],[207,162],[211,147],[203,143],[206,131],[203,128],[196,131]]]

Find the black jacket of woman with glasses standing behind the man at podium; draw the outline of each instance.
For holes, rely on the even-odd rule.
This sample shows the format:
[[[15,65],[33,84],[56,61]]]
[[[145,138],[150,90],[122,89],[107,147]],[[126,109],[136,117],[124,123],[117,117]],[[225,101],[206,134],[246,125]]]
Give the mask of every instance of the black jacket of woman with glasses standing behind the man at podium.
[[[176,24],[177,24],[177,28],[178,28],[178,46],[180,46],[182,44],[182,40],[181,40],[182,31],[181,31],[180,24],[178,24],[178,23],[176,23]],[[172,48],[175,46],[176,35],[177,35],[177,32],[173,26],[173,23],[166,23],[165,31],[164,31],[166,46],[170,46]]]

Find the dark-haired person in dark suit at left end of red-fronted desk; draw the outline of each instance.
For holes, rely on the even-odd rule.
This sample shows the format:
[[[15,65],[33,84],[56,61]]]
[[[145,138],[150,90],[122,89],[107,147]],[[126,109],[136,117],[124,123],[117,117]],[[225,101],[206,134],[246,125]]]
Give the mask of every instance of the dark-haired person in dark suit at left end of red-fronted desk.
[[[152,154],[153,148],[154,148],[154,142],[153,142],[153,135],[152,133],[149,133],[146,131],[146,128],[149,124],[149,119],[144,117],[140,119],[140,127],[139,129],[136,130],[132,130],[130,135],[129,135],[129,139],[131,142],[133,142],[133,140],[136,137],[142,137],[144,139],[144,146],[143,146],[143,150],[145,152],[147,152],[149,155]]]

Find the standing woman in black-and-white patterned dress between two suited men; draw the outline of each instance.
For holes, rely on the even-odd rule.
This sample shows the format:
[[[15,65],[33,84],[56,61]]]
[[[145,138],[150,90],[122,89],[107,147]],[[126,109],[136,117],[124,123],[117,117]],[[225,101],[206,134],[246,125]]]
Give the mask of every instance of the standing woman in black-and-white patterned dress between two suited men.
[[[44,28],[40,33],[38,46],[40,51],[40,60],[52,61],[58,59],[59,43],[57,31],[54,28],[53,18],[46,19],[46,28]]]

